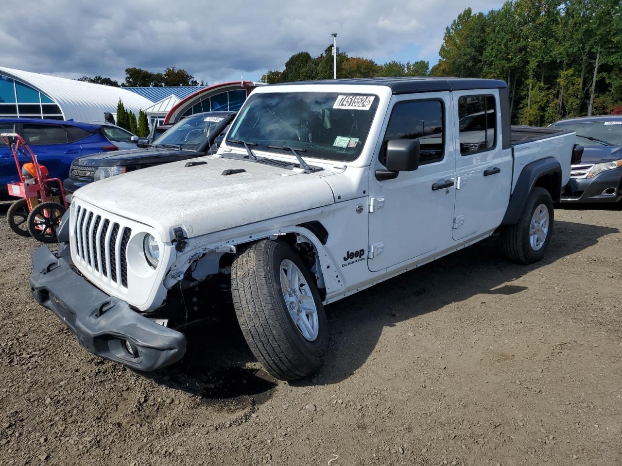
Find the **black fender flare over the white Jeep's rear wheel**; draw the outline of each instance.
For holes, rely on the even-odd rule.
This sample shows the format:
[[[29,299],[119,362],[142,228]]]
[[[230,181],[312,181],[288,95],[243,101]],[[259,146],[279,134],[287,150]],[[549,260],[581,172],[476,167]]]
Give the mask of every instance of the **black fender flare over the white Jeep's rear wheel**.
[[[518,222],[525,208],[529,193],[531,193],[534,186],[536,186],[537,181],[542,178],[542,176],[546,175],[556,175],[555,178],[561,180],[562,165],[560,165],[557,158],[545,157],[525,165],[521,174],[518,176],[514,191],[509,198],[508,210],[506,210],[506,214],[503,217],[502,225],[513,225]],[[553,200],[559,201],[562,190],[561,181],[554,186],[550,186],[548,189]]]

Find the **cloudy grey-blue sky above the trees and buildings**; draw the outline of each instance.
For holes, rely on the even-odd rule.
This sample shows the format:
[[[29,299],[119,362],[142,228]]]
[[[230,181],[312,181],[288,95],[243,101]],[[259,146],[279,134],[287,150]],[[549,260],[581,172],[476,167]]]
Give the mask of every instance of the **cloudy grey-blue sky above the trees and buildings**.
[[[348,55],[438,60],[445,27],[501,0],[2,0],[0,66],[77,78],[177,66],[209,83],[259,80],[293,53],[319,55],[338,33]]]

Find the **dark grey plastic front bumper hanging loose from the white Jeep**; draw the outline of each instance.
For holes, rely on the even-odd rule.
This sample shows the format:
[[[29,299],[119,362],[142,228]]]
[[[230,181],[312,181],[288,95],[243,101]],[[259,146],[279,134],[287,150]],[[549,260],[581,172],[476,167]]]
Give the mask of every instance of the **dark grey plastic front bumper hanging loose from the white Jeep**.
[[[106,295],[75,272],[46,245],[32,254],[32,296],[76,334],[91,353],[131,368],[150,371],[182,359],[186,339]],[[128,350],[126,341],[132,347]]]

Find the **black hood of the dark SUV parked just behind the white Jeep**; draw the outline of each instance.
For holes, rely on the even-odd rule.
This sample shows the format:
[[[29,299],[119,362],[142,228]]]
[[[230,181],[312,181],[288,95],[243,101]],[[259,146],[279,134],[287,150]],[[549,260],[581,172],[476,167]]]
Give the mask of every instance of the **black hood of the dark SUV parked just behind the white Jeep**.
[[[132,165],[136,163],[166,163],[204,155],[201,152],[178,150],[175,148],[137,148],[130,150],[114,150],[113,152],[94,153],[85,157],[78,157],[73,165],[88,167],[113,167],[116,165]]]

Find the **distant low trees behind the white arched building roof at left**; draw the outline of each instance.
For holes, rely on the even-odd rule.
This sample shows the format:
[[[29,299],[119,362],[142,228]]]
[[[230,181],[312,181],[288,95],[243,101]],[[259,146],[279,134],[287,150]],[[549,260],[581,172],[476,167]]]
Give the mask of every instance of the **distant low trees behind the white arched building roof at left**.
[[[169,66],[164,73],[152,73],[152,71],[142,70],[141,68],[126,68],[125,81],[119,84],[111,78],[103,78],[100,75],[82,76],[78,81],[86,83],[102,84],[104,86],[113,86],[116,88],[146,88],[146,87],[163,87],[163,86],[204,86],[205,83],[199,83],[194,76],[188,71],[175,66]]]

